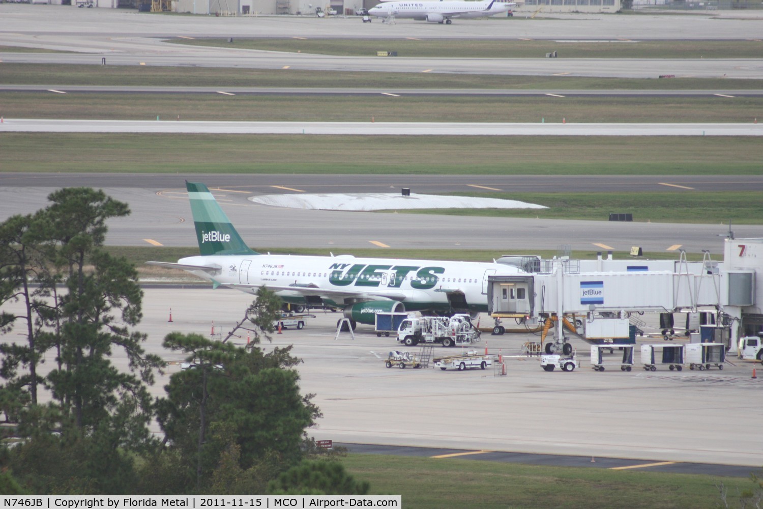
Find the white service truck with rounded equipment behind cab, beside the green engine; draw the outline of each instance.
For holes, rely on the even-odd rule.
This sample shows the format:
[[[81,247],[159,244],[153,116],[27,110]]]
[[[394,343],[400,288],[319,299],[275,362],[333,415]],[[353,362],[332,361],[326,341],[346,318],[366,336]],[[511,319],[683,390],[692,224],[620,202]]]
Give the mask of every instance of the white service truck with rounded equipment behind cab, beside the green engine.
[[[398,341],[406,346],[418,343],[440,343],[456,346],[478,343],[480,332],[468,314],[452,317],[409,317],[398,328]]]

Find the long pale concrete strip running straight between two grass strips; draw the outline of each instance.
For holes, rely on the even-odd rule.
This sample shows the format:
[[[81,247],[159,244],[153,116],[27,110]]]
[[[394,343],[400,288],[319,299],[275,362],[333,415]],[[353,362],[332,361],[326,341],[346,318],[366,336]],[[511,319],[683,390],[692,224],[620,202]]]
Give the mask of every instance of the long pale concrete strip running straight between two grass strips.
[[[0,133],[355,134],[367,136],[761,136],[763,124],[214,122],[6,118]]]

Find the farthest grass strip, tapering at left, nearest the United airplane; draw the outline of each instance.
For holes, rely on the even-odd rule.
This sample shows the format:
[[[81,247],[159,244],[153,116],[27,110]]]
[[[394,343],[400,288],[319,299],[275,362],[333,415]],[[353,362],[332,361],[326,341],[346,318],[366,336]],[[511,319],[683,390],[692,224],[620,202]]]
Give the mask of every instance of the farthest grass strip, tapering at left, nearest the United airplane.
[[[506,22],[513,30],[523,18],[491,20]],[[236,48],[240,50],[283,51],[337,56],[376,56],[377,51],[397,51],[398,57],[429,58],[543,58],[557,52],[558,58],[760,58],[759,40],[619,40],[606,42],[561,42],[558,40],[484,40],[484,39],[294,39],[197,38],[170,42],[192,46]]]

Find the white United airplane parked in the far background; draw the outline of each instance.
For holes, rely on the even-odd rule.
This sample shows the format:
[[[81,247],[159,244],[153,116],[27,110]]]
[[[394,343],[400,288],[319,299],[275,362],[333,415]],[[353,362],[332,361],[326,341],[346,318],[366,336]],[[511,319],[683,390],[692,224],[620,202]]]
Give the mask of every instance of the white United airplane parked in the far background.
[[[450,18],[484,18],[507,12],[514,2],[382,2],[369,9],[377,18],[413,18],[430,23],[450,24]]]

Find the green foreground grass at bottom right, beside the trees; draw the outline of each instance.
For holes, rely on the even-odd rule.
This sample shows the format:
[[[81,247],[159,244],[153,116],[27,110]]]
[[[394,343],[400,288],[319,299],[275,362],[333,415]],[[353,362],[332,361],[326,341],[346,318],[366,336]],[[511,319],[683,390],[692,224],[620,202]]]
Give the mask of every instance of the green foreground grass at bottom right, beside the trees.
[[[401,495],[403,507],[417,509],[709,509],[723,507],[717,488],[721,483],[729,488],[729,507],[744,507],[736,503],[739,501],[736,494],[755,488],[746,478],[526,466],[455,458],[350,454],[342,462],[355,478],[371,483],[371,495]]]

